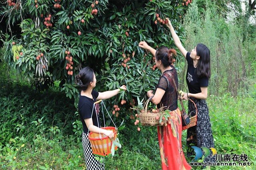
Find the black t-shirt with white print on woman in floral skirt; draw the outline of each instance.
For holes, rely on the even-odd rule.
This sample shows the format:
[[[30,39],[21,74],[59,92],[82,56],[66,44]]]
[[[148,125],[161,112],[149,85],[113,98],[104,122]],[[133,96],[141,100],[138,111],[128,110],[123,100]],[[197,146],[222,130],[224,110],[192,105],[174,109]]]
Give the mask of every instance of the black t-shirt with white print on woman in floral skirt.
[[[190,53],[187,53],[186,59],[188,61],[188,70],[186,74],[188,91],[192,94],[201,93],[200,87],[208,87],[209,79],[205,76],[201,78],[197,76],[196,68],[193,66],[193,59],[190,57]]]

